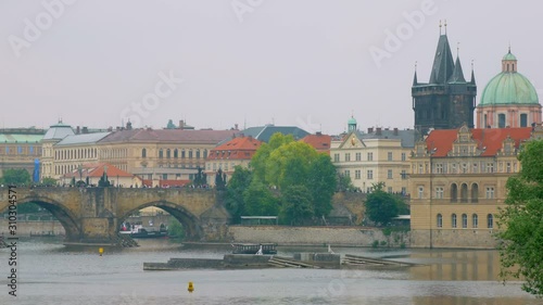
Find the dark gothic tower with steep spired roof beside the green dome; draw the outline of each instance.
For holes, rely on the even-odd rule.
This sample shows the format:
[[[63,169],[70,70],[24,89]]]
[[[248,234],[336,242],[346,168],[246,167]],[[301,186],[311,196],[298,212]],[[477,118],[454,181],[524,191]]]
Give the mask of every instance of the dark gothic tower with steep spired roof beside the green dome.
[[[431,128],[454,129],[464,123],[473,128],[476,96],[473,72],[471,80],[466,81],[458,54],[453,62],[445,25],[445,34],[440,34],[438,41],[430,81],[418,82],[415,71],[412,87],[415,129],[424,136]]]

